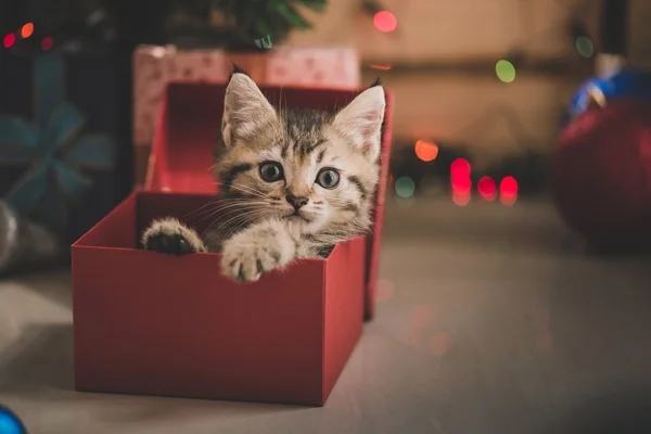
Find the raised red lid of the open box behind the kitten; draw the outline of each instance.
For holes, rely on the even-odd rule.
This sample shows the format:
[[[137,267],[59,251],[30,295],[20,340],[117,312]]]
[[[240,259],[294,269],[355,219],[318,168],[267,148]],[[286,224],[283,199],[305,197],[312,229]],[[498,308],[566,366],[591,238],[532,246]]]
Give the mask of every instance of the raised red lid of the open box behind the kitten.
[[[273,106],[336,111],[361,91],[337,89],[292,89],[260,87]],[[392,136],[393,97],[386,91],[386,113],[382,136],[382,171],[378,189],[374,232],[369,235],[367,286],[374,291],[378,251],[382,230],[384,195],[388,177]],[[216,178],[210,171],[221,127],[225,85],[170,84],[161,104],[152,153],[148,166],[145,190],[175,193],[217,193]],[[372,295],[367,301],[367,317],[372,316]],[[367,297],[369,298],[369,297]],[[371,311],[369,311],[371,309]]]

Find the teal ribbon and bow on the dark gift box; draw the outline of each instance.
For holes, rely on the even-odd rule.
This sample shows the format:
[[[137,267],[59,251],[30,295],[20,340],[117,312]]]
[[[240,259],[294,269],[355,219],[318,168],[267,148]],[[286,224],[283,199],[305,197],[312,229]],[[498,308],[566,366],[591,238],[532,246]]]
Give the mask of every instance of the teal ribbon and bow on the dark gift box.
[[[35,61],[36,119],[0,116],[0,165],[28,167],[7,202],[21,215],[63,230],[71,201],[92,186],[85,175],[110,169],[115,143],[81,133],[86,119],[64,97],[64,60],[56,53]]]

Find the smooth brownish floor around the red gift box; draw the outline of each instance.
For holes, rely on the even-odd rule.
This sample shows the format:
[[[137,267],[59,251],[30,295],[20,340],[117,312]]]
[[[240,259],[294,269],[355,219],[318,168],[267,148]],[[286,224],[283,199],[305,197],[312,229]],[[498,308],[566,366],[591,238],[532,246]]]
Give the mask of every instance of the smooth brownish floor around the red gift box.
[[[651,432],[651,258],[585,255],[544,202],[419,201],[381,278],[324,408],[76,393],[69,273],[5,281],[0,403],[31,434]]]

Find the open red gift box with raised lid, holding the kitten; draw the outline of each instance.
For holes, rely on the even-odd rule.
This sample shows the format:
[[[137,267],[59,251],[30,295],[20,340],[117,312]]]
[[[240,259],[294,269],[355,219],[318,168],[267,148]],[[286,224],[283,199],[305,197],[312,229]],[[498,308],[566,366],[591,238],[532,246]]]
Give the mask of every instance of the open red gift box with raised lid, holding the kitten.
[[[372,234],[327,259],[239,284],[221,255],[138,248],[156,217],[203,230],[217,186],[213,158],[226,87],[170,85],[162,103],[148,190],[132,193],[73,245],[75,383],[79,391],[316,405],[326,403],[373,312],[391,139]],[[263,88],[280,101],[280,88]],[[283,106],[335,110],[358,92],[282,89]],[[214,220],[212,220],[214,221]]]

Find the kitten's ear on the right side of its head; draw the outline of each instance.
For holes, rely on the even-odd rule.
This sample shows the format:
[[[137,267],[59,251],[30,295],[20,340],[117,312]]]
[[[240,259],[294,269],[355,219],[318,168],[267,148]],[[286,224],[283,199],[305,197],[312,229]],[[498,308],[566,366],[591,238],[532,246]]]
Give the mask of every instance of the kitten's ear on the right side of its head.
[[[333,126],[371,161],[380,155],[385,105],[384,89],[378,82],[358,94],[334,117]]]

